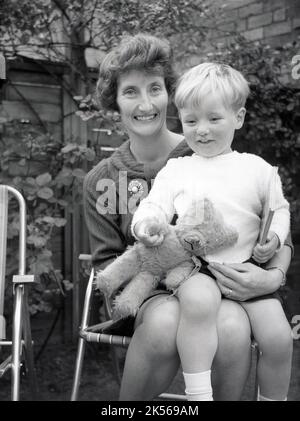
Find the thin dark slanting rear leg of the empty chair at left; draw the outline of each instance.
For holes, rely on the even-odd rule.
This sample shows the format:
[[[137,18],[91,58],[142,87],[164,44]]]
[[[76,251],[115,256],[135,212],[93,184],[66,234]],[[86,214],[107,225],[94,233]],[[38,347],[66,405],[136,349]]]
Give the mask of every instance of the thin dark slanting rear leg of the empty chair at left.
[[[27,290],[25,291],[26,300],[23,306],[23,335],[24,335],[24,354],[25,354],[25,361],[27,366],[28,372],[28,379],[31,391],[32,400],[37,400],[37,378],[36,378],[36,370],[34,365],[34,353],[33,353],[33,342],[31,337],[31,328],[30,328],[30,318],[29,312],[27,307]]]

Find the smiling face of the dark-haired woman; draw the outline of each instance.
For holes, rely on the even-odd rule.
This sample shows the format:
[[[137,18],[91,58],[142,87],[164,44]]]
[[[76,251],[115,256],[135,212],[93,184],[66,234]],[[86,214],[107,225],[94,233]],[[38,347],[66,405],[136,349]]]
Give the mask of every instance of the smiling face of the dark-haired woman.
[[[168,92],[162,76],[130,70],[118,79],[117,104],[128,135],[153,136],[166,124]]]

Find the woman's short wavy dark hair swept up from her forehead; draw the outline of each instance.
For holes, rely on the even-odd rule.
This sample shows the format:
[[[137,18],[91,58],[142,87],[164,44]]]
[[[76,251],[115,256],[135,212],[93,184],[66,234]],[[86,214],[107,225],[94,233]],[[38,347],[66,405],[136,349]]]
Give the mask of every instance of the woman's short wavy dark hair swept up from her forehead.
[[[118,111],[118,78],[130,70],[142,70],[164,78],[169,96],[175,90],[177,76],[173,68],[173,53],[168,41],[139,33],[125,36],[100,65],[97,96],[102,108]]]

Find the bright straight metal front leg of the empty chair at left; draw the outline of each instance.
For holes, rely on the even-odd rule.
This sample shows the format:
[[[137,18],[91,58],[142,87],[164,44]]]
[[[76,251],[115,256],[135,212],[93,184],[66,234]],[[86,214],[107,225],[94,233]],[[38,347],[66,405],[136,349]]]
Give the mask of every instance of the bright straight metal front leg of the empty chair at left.
[[[15,305],[13,317],[12,338],[12,390],[11,399],[18,401],[20,398],[20,361],[21,361],[21,337],[22,337],[22,303],[24,286],[15,286]]]

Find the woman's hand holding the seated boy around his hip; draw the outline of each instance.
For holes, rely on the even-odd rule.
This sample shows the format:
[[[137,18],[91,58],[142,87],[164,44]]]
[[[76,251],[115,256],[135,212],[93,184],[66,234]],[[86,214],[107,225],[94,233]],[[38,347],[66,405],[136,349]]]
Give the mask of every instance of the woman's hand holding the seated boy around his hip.
[[[276,291],[282,281],[282,273],[276,269],[265,270],[253,263],[208,265],[217,278],[222,294],[231,300],[246,301]]]

